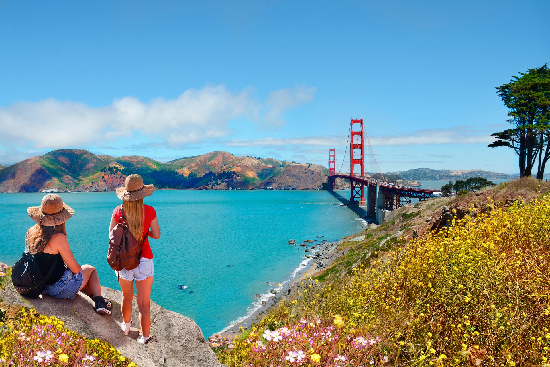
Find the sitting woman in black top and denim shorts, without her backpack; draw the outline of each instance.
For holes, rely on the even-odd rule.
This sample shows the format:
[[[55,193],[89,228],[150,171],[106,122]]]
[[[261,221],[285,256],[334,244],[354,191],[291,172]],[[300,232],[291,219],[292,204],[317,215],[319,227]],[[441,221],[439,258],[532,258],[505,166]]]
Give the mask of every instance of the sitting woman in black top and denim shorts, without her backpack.
[[[61,196],[48,194],[42,198],[40,206],[29,207],[27,213],[36,224],[25,235],[26,250],[34,254],[43,274],[55,264],[42,294],[73,299],[82,291],[94,300],[98,314],[111,314],[111,304],[101,295],[96,268],[80,266],[70,249],[65,222],[73,216],[74,210],[63,203]]]

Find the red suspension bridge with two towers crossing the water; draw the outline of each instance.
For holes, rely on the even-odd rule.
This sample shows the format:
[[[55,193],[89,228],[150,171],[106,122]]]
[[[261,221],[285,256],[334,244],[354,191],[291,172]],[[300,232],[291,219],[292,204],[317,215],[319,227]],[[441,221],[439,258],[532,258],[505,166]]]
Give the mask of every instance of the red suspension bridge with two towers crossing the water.
[[[328,190],[333,191],[336,178],[350,182],[349,206],[364,206],[369,216],[375,217],[377,223],[383,222],[386,211],[392,211],[403,205],[411,204],[411,200],[426,200],[441,195],[437,190],[418,189],[397,183],[389,183],[383,179],[376,157],[367,135],[372,157],[376,162],[381,179],[368,176],[365,171],[365,139],[363,119],[351,119],[350,122],[350,169],[349,172],[336,172],[336,151],[328,150]],[[345,155],[345,153],[344,153]],[[342,167],[340,167],[340,171]],[[366,191],[366,196],[365,196]]]

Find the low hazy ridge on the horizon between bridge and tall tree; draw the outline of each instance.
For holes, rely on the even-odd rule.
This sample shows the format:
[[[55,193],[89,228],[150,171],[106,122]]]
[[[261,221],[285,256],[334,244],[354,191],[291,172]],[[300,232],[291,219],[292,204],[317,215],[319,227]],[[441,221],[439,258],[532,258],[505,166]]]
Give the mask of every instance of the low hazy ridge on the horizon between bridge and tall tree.
[[[499,172],[483,171],[482,169],[431,169],[414,168],[409,171],[387,172],[401,176],[404,180],[465,180],[470,177],[483,177],[488,180],[494,179],[515,179],[519,174],[506,174]]]

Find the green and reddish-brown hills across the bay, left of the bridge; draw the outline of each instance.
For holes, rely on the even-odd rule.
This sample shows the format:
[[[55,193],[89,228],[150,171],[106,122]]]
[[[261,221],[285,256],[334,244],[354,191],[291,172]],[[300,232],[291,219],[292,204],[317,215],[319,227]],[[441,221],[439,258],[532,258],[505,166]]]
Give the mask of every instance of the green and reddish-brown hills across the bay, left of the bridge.
[[[159,188],[315,189],[326,180],[327,169],[223,151],[161,163],[143,156],[116,158],[59,149],[0,167],[0,192],[111,191],[124,185],[130,173],[141,174]]]

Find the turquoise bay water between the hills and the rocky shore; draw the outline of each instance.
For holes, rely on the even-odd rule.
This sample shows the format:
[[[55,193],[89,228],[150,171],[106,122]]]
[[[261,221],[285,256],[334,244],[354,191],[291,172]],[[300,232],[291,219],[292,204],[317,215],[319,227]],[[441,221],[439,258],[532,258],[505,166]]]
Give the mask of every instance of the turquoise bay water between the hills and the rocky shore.
[[[338,194],[349,198],[346,191]],[[102,285],[120,289],[105,260],[109,221],[120,200],[113,192],[60,195],[76,211],[67,222],[76,260],[94,265]],[[25,231],[34,223],[26,209],[40,205],[42,196],[0,194],[5,221],[0,261],[13,265],[20,258]],[[155,207],[162,232],[160,239],[150,239],[151,298],[194,319],[206,337],[246,315],[257,293],[277,288],[267,282],[292,277],[305,253],[287,244],[290,238],[324,235],[334,241],[365,224],[327,191],[158,190],[145,203]]]

